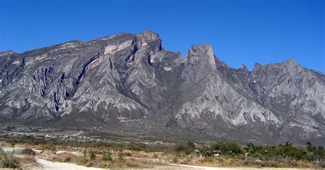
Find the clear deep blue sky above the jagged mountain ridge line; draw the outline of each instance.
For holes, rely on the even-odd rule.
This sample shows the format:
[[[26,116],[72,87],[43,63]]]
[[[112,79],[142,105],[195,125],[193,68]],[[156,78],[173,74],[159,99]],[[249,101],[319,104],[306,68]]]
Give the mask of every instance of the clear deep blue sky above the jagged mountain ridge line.
[[[206,42],[234,68],[293,58],[325,73],[324,1],[0,0],[0,21],[0,51],[150,29],[184,56]]]

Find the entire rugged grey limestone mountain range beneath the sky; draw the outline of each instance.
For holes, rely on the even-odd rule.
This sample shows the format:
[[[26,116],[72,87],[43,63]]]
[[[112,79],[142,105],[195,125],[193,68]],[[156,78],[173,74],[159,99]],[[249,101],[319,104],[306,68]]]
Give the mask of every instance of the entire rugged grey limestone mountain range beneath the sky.
[[[183,60],[149,31],[0,53],[3,122],[84,120],[121,135],[324,144],[324,89],[324,74],[292,59],[232,69],[203,44]]]

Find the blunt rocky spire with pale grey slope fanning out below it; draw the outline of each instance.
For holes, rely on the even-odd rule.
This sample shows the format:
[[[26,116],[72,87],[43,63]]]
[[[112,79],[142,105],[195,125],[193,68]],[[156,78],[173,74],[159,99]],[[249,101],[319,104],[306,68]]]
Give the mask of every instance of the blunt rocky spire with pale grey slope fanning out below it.
[[[236,138],[241,135],[239,127],[245,129],[243,132],[252,131],[246,135],[272,136],[269,129],[276,129],[281,121],[271,110],[237,91],[233,82],[224,81],[217,67],[220,64],[223,63],[215,60],[210,45],[199,45],[189,51],[184,61],[182,77],[186,81],[181,93],[187,101],[176,114],[180,125],[219,137]]]

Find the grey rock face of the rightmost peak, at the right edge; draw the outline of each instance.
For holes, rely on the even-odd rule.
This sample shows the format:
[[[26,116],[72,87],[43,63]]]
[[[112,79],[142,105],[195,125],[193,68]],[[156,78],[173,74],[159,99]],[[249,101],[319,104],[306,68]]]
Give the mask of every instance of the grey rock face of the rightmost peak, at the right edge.
[[[256,64],[252,71],[257,100],[285,122],[282,131],[296,129],[291,137],[309,138],[317,131],[317,136],[324,134],[324,80],[317,76],[291,59],[280,64]]]

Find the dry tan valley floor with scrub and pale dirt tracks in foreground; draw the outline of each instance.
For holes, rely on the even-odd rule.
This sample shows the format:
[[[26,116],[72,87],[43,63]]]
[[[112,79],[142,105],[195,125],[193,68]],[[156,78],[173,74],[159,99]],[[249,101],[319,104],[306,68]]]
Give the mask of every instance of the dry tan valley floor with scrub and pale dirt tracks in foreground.
[[[4,138],[8,140],[8,138]],[[283,165],[272,161],[274,165],[262,166],[262,160],[252,159],[250,164],[239,164],[239,159],[227,156],[204,157],[195,152],[204,149],[204,146],[196,147],[190,154],[178,151],[186,148],[184,145],[145,145],[129,143],[46,143],[40,144],[35,138],[22,142],[23,138],[10,138],[14,143],[0,141],[0,167],[15,167],[18,169],[75,169],[75,170],[96,170],[96,169],[193,169],[193,170],[298,170],[317,169],[324,167],[317,163],[306,160],[293,160],[297,163]],[[73,147],[73,145],[75,145]],[[126,147],[128,146],[128,147]],[[184,147],[184,148],[183,148]],[[206,147],[207,148],[207,147]],[[209,147],[208,147],[209,148]],[[165,149],[165,151],[160,151]],[[173,149],[173,150],[171,150]],[[171,152],[174,151],[174,152]],[[176,151],[176,152],[175,152]],[[202,151],[203,152],[203,151]],[[250,157],[248,157],[250,158]],[[249,159],[245,161],[248,161]],[[320,163],[323,160],[320,161]],[[289,161],[287,161],[289,162]],[[259,163],[259,164],[258,164]],[[275,167],[277,165],[277,167]],[[319,168],[318,168],[319,169]],[[0,168],[1,170],[1,168]]]

